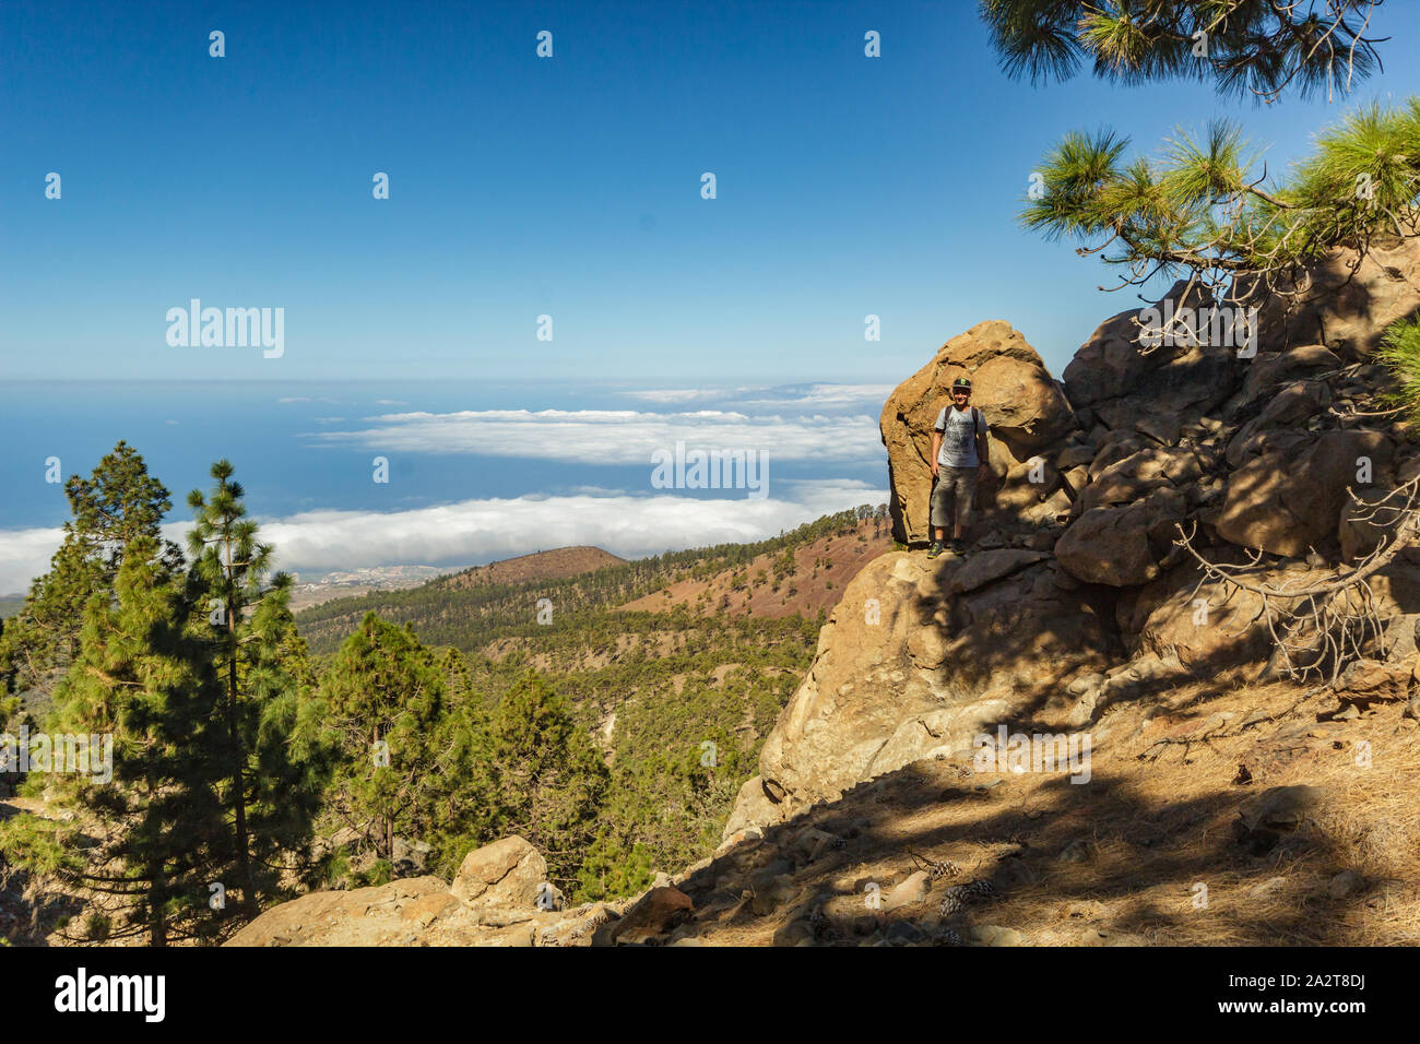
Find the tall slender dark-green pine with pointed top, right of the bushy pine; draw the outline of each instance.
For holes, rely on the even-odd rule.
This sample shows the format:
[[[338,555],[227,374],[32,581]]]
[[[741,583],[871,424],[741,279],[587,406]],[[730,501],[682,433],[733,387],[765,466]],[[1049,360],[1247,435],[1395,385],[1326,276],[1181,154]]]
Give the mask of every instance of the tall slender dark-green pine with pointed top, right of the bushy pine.
[[[187,537],[187,595],[206,614],[207,649],[222,696],[223,771],[219,798],[231,815],[231,864],[243,906],[280,891],[284,859],[310,841],[318,801],[317,763],[291,739],[300,710],[300,655],[290,611],[291,577],[266,584],[273,547],[246,518],[244,490],[229,482],[231,463],[212,466],[209,497],[187,494],[196,524]]]

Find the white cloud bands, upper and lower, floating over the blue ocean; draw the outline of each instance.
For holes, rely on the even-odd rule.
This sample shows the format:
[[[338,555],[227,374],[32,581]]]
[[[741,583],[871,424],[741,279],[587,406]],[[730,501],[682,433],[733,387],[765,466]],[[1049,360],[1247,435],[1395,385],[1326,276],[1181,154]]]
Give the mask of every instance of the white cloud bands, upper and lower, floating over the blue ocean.
[[[763,540],[858,504],[888,499],[882,482],[834,477],[886,464],[878,412],[890,392],[879,385],[791,385],[628,389],[633,409],[388,412],[311,418],[302,437],[332,446],[400,455],[480,455],[557,459],[581,464],[645,464],[650,453],[684,442],[755,450],[772,463],[812,463],[825,477],[771,476],[770,494],[747,499],[684,496],[674,490],[605,489],[592,480],[555,494],[462,499],[395,511],[307,510],[253,517],[277,548],[277,565],[302,574],[369,565],[462,567],[554,547],[592,544],[636,558],[669,550]],[[388,405],[405,405],[393,403]],[[163,527],[185,545],[190,521]],[[0,533],[0,592],[20,592],[48,568],[62,530]]]

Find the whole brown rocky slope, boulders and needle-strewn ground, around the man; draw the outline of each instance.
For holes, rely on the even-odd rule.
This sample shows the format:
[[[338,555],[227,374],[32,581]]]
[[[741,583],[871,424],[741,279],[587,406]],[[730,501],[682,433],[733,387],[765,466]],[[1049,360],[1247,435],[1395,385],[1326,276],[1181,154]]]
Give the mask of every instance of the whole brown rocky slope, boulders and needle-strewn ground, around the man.
[[[1370,359],[1386,322],[1420,311],[1420,249],[1380,257],[1345,284],[1339,257],[1316,277],[1329,297],[1301,310],[1269,300],[1255,354],[1142,349],[1137,310],[1100,324],[1064,384],[1005,322],[943,345],[883,409],[890,513],[920,545],[930,428],[970,376],[994,482],[968,554],[892,551],[848,584],[713,857],[622,906],[524,896],[497,930],[525,926],[521,945],[1420,942],[1420,554],[1367,575],[1382,634],[1335,683],[1285,676],[1268,609],[1299,595],[1264,604],[1350,575],[1389,533],[1352,493],[1386,501],[1420,474],[1420,446],[1375,405],[1389,374]],[[1164,300],[1197,304],[1184,290]],[[1244,587],[1200,557],[1245,567]],[[263,920],[247,942],[302,940]]]

